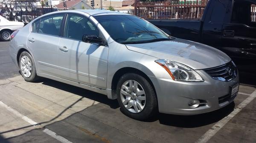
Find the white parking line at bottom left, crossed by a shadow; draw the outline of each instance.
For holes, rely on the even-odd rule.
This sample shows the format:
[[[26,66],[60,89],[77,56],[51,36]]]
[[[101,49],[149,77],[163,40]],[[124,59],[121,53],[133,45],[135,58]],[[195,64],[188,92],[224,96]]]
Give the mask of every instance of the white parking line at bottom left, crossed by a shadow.
[[[5,107],[8,111],[12,112],[13,114],[17,115],[18,117],[22,118],[24,121],[28,122],[29,124],[33,126],[37,126],[37,122],[33,121],[32,119],[28,118],[27,116],[21,114],[17,110],[13,109],[12,107],[9,107],[7,104],[0,101],[0,106]],[[56,135],[55,132],[52,132],[49,129],[44,129],[44,131],[47,135],[50,135],[51,137],[55,138],[56,140],[59,140],[61,143],[72,143],[69,140],[65,139],[64,137],[61,137],[59,135]]]

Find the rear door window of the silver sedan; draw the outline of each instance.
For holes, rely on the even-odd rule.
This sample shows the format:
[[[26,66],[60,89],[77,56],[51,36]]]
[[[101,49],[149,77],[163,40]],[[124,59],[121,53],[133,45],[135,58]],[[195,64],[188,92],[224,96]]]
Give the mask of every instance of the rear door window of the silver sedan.
[[[36,33],[58,36],[64,14],[44,17],[33,23],[32,31]]]

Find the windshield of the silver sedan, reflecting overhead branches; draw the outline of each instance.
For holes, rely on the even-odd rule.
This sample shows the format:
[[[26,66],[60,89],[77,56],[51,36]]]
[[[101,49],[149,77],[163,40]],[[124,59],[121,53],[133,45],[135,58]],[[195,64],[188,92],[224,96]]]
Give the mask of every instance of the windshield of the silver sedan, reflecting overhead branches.
[[[95,19],[105,28],[108,34],[116,42],[145,43],[170,40],[151,23],[132,15],[101,15]]]

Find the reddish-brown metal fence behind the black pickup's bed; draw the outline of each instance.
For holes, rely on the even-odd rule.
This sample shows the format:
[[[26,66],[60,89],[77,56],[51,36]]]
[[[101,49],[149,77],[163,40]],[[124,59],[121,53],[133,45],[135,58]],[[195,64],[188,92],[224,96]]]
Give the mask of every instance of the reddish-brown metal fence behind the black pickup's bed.
[[[134,14],[144,19],[200,20],[209,0],[140,2],[135,0]]]

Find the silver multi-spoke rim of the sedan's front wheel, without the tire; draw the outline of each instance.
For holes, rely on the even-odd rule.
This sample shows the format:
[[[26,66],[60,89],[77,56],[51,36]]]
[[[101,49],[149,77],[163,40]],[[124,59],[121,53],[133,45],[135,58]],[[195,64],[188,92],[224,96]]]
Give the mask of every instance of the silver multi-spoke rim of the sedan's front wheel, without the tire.
[[[122,84],[120,96],[122,104],[132,113],[139,113],[145,107],[145,91],[135,80],[128,80]]]

